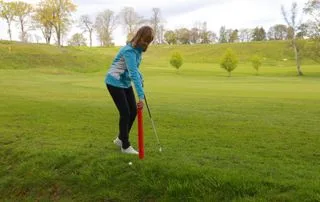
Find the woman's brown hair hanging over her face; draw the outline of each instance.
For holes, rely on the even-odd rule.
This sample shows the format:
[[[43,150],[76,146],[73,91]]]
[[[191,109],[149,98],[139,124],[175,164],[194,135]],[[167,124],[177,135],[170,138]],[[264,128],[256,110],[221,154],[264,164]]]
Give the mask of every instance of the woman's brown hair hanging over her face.
[[[142,48],[143,52],[146,52],[148,46],[153,41],[153,38],[153,29],[149,26],[143,26],[138,30],[130,42],[134,48]]]

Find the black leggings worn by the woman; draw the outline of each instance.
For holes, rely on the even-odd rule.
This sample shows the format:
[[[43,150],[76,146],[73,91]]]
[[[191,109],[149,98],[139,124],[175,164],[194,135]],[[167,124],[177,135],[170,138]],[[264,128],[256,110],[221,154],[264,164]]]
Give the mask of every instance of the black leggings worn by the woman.
[[[137,116],[134,92],[132,87],[118,88],[107,84],[107,88],[120,114],[118,137],[122,141],[122,148],[127,149],[130,146],[129,133]]]

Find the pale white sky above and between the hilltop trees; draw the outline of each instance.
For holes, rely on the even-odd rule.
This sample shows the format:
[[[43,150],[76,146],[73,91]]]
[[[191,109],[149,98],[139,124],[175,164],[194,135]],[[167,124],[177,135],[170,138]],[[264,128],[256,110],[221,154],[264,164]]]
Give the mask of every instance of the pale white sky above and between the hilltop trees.
[[[39,0],[23,1],[31,4],[39,2]],[[88,14],[94,19],[97,13],[105,9],[119,13],[125,6],[133,7],[141,16],[149,18],[152,8],[157,7],[161,10],[166,29],[192,28],[195,22],[206,21],[208,30],[218,34],[221,26],[226,26],[227,29],[263,26],[267,31],[275,24],[285,24],[281,5],[289,9],[293,0],[74,0],[73,2],[78,6],[77,12],[72,15],[75,21],[83,14]],[[295,2],[302,10],[307,0],[295,0]],[[16,23],[12,27],[16,30]],[[18,40],[17,31],[14,32],[13,39]],[[68,36],[64,38],[64,43],[66,44],[68,38],[76,32],[81,31],[76,26],[71,28]],[[32,38],[35,35],[41,36],[40,32],[35,31],[31,31],[30,34]],[[0,39],[8,38],[7,25],[0,19]],[[116,45],[125,44],[126,37],[121,25],[114,31],[113,39]],[[98,45],[96,36],[93,43]]]

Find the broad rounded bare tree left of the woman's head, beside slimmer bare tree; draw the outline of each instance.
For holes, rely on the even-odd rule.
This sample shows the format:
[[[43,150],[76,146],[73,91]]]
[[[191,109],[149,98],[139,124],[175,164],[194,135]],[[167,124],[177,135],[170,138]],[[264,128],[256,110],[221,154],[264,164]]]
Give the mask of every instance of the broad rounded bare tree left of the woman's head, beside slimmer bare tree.
[[[112,45],[112,32],[116,28],[117,22],[117,16],[115,16],[114,12],[109,9],[97,15],[95,28],[101,46]]]

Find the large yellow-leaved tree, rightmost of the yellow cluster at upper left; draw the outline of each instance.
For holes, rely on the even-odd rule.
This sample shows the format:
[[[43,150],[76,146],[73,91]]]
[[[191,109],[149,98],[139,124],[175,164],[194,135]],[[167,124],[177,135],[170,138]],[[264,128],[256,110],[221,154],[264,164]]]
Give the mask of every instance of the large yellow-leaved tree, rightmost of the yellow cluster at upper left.
[[[71,24],[71,13],[76,11],[76,5],[71,0],[42,0],[45,11],[48,12],[49,22],[55,30],[58,46],[61,38]]]

